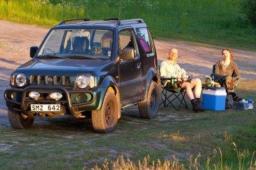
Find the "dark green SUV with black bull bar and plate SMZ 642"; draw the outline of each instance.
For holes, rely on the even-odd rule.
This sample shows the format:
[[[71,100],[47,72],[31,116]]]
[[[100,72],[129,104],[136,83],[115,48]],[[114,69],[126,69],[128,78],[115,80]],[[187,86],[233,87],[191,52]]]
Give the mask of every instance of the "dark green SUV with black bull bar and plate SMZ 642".
[[[121,109],[134,104],[142,118],[157,115],[156,48],[141,19],[64,20],[31,46],[30,57],[4,92],[13,128],[31,127],[36,115],[69,114],[111,132]]]

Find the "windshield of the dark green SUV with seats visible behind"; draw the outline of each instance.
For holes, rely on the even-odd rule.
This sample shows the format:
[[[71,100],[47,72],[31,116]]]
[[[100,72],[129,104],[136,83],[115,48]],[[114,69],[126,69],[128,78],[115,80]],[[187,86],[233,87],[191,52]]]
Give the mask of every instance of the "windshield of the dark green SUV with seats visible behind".
[[[84,57],[110,59],[113,32],[98,29],[55,29],[47,37],[37,57]]]

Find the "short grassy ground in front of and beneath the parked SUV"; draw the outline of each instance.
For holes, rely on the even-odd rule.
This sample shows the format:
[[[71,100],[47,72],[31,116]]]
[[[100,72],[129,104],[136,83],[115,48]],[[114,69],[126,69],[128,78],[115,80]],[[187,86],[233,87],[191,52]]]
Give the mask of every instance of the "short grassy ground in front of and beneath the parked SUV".
[[[256,80],[242,81],[237,94],[255,99]],[[0,125],[1,169],[154,169],[157,163],[180,169],[256,168],[255,108],[193,113],[191,106],[180,111],[161,106],[155,119],[146,120],[134,106],[122,110],[110,134],[93,132],[91,120],[36,118],[27,130]]]

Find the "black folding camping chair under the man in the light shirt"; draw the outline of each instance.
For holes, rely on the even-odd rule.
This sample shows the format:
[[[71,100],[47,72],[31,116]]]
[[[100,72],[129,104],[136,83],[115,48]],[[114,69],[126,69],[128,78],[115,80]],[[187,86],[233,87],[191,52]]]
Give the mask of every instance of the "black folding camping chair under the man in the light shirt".
[[[160,74],[160,68],[158,66],[158,71]],[[168,106],[171,104],[175,110],[180,110],[180,106],[183,105],[185,108],[188,108],[188,105],[185,101],[185,94],[186,91],[182,90],[180,87],[171,89],[164,86],[164,81],[169,81],[170,78],[161,78],[161,88],[162,88],[162,103],[164,106]],[[175,104],[176,102],[179,102],[179,105]]]

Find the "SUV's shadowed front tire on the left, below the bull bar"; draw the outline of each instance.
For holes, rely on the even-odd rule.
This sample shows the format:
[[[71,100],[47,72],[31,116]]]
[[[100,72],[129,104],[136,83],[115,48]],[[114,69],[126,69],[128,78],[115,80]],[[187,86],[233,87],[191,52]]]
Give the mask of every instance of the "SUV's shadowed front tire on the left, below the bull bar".
[[[8,118],[14,129],[27,129],[33,125],[35,120],[34,116],[23,118],[19,111],[10,108],[8,108]]]

